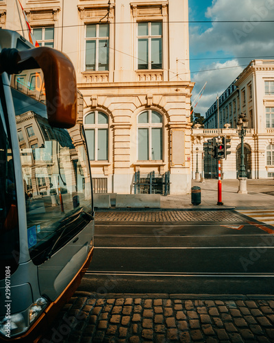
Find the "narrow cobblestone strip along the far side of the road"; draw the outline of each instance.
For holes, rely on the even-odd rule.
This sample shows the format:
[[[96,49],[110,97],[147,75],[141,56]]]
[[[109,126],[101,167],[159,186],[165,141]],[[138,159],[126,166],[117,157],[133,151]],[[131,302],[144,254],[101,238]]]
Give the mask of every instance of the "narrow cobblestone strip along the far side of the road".
[[[97,211],[96,222],[235,222],[242,217],[232,211]]]

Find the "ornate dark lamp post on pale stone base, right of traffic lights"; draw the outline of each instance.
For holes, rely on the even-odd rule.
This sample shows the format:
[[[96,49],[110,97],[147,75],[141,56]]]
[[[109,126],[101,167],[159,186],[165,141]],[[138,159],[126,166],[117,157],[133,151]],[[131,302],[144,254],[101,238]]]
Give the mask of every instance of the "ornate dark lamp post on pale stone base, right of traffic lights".
[[[239,173],[239,189],[238,193],[247,193],[247,173],[245,171],[245,150],[244,150],[244,138],[247,134],[248,119],[243,113],[240,114],[237,123],[238,136],[240,138],[240,173]]]

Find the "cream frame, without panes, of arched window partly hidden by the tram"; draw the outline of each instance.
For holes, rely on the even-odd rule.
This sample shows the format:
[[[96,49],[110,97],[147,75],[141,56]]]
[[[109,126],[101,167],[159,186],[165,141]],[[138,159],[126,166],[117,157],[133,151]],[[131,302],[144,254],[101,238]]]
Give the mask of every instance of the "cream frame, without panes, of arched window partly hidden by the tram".
[[[87,124],[85,123],[86,121],[86,117],[90,114],[94,113],[95,114],[95,123],[93,124]],[[108,118],[108,123],[98,123],[98,113],[102,113],[103,115],[105,115],[107,118]],[[90,159],[90,161],[92,162],[108,162],[110,160],[110,147],[109,147],[109,143],[110,143],[110,116],[103,112],[101,109],[98,109],[98,110],[92,110],[88,113],[86,113],[86,115],[84,115],[84,118],[83,118],[83,123],[84,123],[84,130],[86,132],[86,130],[94,130],[94,159],[90,159],[90,152],[88,151],[88,157]],[[107,152],[106,152],[106,155],[107,155],[107,159],[106,160],[99,160],[98,159],[98,131],[99,130],[107,130],[107,142],[106,142],[106,147],[107,147]],[[87,139],[87,146],[88,146],[88,139]]]

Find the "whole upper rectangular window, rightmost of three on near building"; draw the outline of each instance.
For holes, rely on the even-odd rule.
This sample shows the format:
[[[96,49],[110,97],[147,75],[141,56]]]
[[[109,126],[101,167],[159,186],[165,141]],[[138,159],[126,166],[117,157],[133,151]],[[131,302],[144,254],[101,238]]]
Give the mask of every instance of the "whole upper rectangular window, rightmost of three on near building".
[[[138,69],[162,69],[162,23],[138,23]]]

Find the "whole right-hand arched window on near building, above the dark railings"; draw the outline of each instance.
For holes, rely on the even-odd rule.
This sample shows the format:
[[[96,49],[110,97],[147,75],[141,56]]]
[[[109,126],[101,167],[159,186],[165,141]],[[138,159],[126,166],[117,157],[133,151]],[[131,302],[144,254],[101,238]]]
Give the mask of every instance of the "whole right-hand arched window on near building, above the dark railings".
[[[138,160],[162,160],[162,115],[155,110],[138,115]]]

